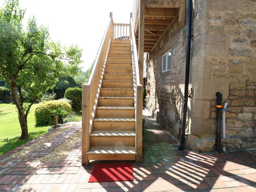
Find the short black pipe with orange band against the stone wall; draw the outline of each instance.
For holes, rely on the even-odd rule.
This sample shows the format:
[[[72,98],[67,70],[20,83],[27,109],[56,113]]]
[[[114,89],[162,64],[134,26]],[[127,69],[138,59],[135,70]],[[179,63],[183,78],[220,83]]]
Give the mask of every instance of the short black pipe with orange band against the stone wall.
[[[222,94],[217,92],[217,117],[216,117],[216,139],[215,139],[215,147],[218,153],[221,153],[221,110],[222,110]]]

